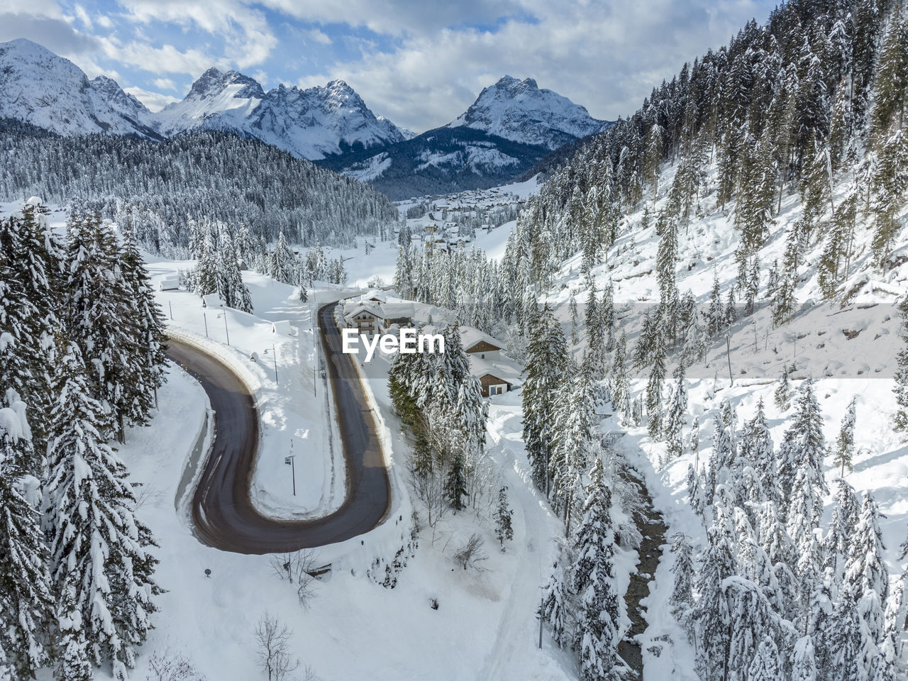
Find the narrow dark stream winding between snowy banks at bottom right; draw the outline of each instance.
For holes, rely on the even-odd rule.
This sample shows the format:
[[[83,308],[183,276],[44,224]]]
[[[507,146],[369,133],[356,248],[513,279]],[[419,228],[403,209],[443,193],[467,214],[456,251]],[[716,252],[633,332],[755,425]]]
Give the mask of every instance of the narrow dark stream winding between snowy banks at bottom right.
[[[640,496],[644,502],[644,514],[637,517],[637,529],[643,536],[643,541],[637,549],[639,555],[637,572],[630,576],[630,584],[625,594],[627,617],[631,624],[627,634],[618,644],[618,655],[634,670],[637,678],[643,678],[643,652],[637,637],[646,630],[646,619],[645,608],[640,605],[640,601],[649,596],[649,584],[656,578],[656,568],[662,558],[667,528],[662,514],[653,507],[653,498],[646,489],[643,479],[630,472],[627,476],[640,489]]]

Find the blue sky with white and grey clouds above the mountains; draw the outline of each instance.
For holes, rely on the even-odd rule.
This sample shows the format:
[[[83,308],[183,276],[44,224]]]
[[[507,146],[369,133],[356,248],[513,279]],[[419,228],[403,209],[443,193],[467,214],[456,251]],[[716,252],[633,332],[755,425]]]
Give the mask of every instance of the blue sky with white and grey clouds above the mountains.
[[[533,77],[612,120],[686,60],[763,23],[775,0],[0,0],[0,42],[25,37],[106,74],[153,110],[209,66],[267,89],[347,81],[421,132],[503,74]]]

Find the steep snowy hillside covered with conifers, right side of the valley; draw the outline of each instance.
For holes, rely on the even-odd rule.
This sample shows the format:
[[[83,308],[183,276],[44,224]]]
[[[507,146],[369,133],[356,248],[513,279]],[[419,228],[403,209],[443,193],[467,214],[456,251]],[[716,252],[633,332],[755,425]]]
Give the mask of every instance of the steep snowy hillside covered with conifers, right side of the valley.
[[[847,476],[858,457],[872,465],[854,440],[861,400],[887,424],[874,425],[873,453],[901,456],[908,350],[887,364],[889,346],[842,348],[830,333],[841,330],[810,327],[906,291],[906,100],[908,23],[897,3],[792,2],[685,64],[552,171],[501,262],[401,249],[401,291],[507,329],[509,350],[526,357],[524,444],[568,536],[543,615],[576,653],[580,678],[619,676],[611,528],[599,507],[622,480],[603,481],[597,462],[608,469],[615,455],[577,437],[593,428],[584,419],[598,399],[611,402],[612,433],[639,437],[654,465],[689,460],[686,494],[675,491],[696,519],[676,528],[670,608],[660,611],[676,627],[658,624],[678,637],[673,646],[690,645],[684,673],[903,677],[908,539],[901,527],[893,542],[887,528],[883,542],[872,491],[883,482],[864,478],[859,490]],[[905,312],[887,306],[866,342],[894,333]],[[807,329],[786,333],[793,320]],[[792,340],[805,348],[794,359]],[[759,358],[733,374],[732,349],[742,348]],[[873,369],[845,367],[862,361]],[[856,390],[825,387],[839,369],[880,380],[862,383],[833,441],[821,402]],[[701,442],[706,423],[711,442]]]

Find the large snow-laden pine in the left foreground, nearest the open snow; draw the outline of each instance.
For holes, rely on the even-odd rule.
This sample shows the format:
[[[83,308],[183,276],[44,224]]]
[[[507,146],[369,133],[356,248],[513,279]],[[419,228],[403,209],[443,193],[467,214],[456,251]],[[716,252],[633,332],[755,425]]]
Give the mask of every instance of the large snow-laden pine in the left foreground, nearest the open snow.
[[[135,498],[123,462],[104,439],[111,415],[90,396],[78,350],[61,357],[51,412],[50,479],[45,523],[50,538],[51,577],[56,587],[64,654],[82,668],[78,621],[95,665],[109,661],[114,678],[125,679],[152,628],[154,540],[133,514]],[[72,650],[71,650],[72,648]]]

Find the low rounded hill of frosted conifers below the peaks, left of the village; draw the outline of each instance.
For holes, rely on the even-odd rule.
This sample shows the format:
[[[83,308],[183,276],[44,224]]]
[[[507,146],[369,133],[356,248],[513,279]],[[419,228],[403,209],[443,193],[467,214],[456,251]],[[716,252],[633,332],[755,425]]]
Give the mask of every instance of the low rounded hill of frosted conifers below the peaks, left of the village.
[[[253,236],[350,246],[390,238],[397,213],[370,186],[232,134],[189,133],[155,143],[115,135],[61,137],[0,123],[0,198],[74,199],[120,224],[153,252],[189,254],[189,221],[246,225]]]

